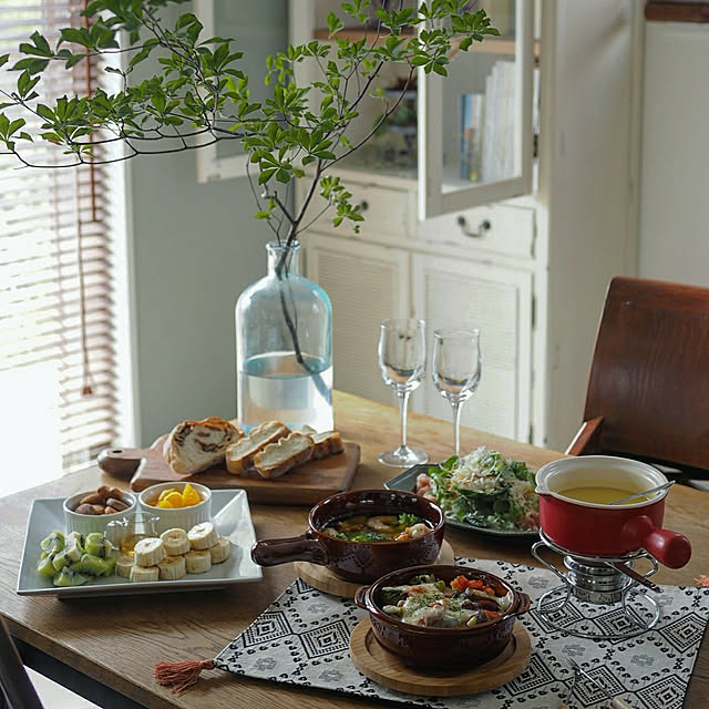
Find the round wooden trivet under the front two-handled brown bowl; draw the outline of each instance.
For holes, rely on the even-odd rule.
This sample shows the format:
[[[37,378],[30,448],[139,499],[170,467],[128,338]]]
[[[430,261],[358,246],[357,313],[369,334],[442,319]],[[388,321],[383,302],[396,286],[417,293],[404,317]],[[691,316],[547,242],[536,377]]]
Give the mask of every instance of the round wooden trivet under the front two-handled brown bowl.
[[[374,637],[369,618],[357,624],[350,636],[354,667],[378,685],[428,697],[475,695],[500,687],[521,675],[530,664],[532,643],[520,623],[514,624],[507,647],[494,659],[460,672],[424,672],[404,665]]]

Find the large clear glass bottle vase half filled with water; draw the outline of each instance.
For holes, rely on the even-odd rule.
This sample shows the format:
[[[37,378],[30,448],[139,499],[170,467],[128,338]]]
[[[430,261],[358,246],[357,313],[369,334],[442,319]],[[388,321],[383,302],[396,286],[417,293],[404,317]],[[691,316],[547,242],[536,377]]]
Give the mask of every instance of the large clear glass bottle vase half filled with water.
[[[268,273],[236,304],[237,415],[329,431],[332,422],[332,307],[299,274],[300,245],[271,242]]]

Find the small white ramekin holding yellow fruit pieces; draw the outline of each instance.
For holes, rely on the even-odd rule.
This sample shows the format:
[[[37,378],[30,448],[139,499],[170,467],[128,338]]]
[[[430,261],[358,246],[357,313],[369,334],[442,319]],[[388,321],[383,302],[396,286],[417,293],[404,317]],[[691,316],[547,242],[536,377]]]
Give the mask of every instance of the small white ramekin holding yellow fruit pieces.
[[[212,491],[192,482],[157,483],[138,495],[142,510],[157,517],[155,532],[178,527],[188,532],[212,517]]]

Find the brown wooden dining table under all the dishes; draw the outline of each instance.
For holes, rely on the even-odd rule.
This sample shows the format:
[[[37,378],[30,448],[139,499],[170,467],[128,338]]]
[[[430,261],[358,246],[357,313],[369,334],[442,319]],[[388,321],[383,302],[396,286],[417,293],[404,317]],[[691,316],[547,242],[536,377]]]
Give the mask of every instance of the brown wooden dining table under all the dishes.
[[[398,473],[377,460],[381,451],[399,443],[395,408],[335,392],[335,419],[343,439],[361,446],[354,489],[381,487]],[[442,460],[451,454],[453,429],[450,421],[410,413],[408,434],[409,443],[428,451],[431,460]],[[462,450],[479,445],[523,460],[533,470],[563,455],[490,433],[461,430]],[[6,470],[3,474],[16,472]],[[127,489],[126,479],[113,477],[93,466],[0,500],[0,613],[29,665],[41,665],[40,669],[45,668],[59,681],[69,677],[88,678],[90,687],[100,687],[115,696],[115,702],[102,699],[103,695],[88,697],[105,707],[275,709],[298,706],[338,709],[371,706],[369,698],[358,700],[335,691],[295,688],[217,669],[204,671],[199,681],[179,696],[155,681],[153,670],[158,660],[214,658],[295,579],[292,564],[264,568],[259,582],[234,584],[217,590],[66,599],[45,595],[19,596],[16,593],[18,571],[32,501],[65,497],[95,489],[102,482]],[[302,533],[307,525],[306,506],[251,504],[250,510],[257,538],[294,536]],[[692,586],[697,585],[696,578],[700,574],[709,574],[708,510],[706,492],[685,485],[670,489],[665,526],[686,534],[693,553],[684,568],[660,567],[654,580]],[[530,553],[528,541],[497,541],[453,528],[446,531],[446,540],[460,556],[538,565]],[[91,690],[84,693],[91,695]],[[123,697],[132,702],[121,705]],[[685,707],[707,706],[703,703],[709,701],[707,697],[709,643],[705,635]]]

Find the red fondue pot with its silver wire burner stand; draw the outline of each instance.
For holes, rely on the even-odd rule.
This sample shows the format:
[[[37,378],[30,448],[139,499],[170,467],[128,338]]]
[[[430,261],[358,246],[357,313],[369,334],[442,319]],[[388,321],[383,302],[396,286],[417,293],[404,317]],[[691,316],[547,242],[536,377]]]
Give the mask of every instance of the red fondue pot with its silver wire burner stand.
[[[648,579],[659,564],[680,568],[691,555],[686,536],[661,528],[670,484],[656,467],[608,455],[567,458],[540,469],[541,528],[532,554],[562,580],[537,600],[537,614],[551,628],[580,638],[621,640],[657,624],[660,604],[648,590],[662,589]],[[603,486],[654,494],[615,506],[564,494]],[[636,496],[621,495],[616,502]],[[564,557],[565,574],[544,558],[546,551]],[[649,562],[644,573],[635,568],[641,559]]]

